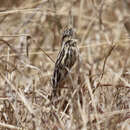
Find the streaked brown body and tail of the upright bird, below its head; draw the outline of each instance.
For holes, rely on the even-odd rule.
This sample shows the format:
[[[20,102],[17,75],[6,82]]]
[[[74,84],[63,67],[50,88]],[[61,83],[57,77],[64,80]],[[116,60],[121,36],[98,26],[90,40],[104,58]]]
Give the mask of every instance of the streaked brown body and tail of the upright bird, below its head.
[[[78,57],[77,40],[70,39],[63,41],[61,50],[58,54],[54,73],[52,77],[53,95],[56,96],[57,88],[65,80],[69,71],[76,63]]]

